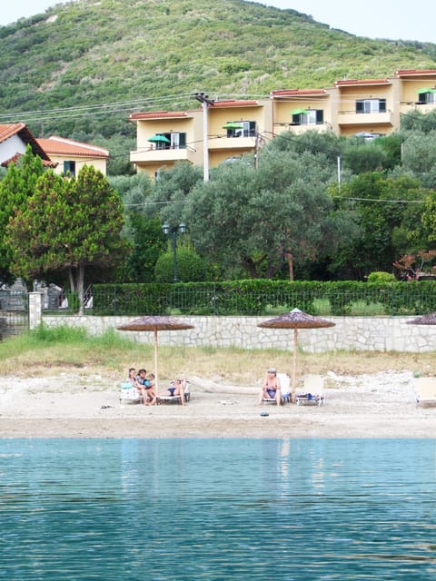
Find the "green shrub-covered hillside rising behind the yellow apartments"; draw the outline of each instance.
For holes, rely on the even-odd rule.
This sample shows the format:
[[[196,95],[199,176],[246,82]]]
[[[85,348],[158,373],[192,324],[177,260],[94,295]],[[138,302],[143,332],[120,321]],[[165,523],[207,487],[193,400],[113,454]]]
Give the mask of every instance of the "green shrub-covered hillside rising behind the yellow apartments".
[[[77,0],[0,28],[0,123],[132,135],[129,113],[196,106],[197,90],[260,97],[435,60],[435,44],[374,41],[243,0]]]

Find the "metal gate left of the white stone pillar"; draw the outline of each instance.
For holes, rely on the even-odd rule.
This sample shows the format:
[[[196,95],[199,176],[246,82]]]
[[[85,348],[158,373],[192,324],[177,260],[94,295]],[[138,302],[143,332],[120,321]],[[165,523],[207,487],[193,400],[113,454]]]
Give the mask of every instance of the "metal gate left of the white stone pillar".
[[[19,335],[29,328],[27,292],[22,289],[0,291],[0,339]]]

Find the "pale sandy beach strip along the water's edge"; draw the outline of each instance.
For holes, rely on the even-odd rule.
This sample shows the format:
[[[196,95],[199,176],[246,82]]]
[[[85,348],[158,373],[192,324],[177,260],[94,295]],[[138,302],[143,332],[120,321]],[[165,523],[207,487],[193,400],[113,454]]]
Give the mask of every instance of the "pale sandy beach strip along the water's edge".
[[[120,404],[113,379],[86,373],[0,378],[1,438],[436,438],[411,372],[325,377],[325,404],[257,406],[259,386],[190,378],[185,406]],[[261,416],[268,412],[268,416]]]

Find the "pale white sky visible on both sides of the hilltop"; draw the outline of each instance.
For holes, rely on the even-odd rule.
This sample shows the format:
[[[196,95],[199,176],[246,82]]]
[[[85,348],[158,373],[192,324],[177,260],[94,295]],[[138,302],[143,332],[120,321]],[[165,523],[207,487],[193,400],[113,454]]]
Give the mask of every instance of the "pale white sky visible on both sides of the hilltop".
[[[44,13],[50,6],[64,3],[60,0],[12,0],[6,3],[3,0],[2,4],[0,25]],[[292,8],[312,15],[314,20],[324,25],[358,36],[436,43],[434,0],[421,0],[417,5],[410,0],[364,0],[361,3],[352,0],[258,0],[258,4]]]

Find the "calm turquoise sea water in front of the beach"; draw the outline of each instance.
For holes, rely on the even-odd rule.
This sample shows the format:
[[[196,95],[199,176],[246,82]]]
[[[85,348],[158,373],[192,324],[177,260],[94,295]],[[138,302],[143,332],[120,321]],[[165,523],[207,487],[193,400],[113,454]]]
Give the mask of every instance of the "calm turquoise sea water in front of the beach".
[[[0,579],[436,578],[433,439],[3,439]]]

